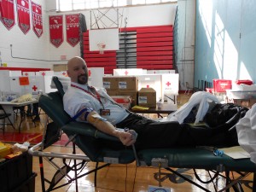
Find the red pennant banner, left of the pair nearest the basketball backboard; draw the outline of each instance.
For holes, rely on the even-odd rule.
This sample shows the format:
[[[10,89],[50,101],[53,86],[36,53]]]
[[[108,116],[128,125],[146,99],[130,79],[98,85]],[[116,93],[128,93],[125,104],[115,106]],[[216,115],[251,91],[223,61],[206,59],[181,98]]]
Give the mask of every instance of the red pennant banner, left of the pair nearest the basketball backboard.
[[[62,15],[49,16],[49,41],[58,48],[63,43]]]

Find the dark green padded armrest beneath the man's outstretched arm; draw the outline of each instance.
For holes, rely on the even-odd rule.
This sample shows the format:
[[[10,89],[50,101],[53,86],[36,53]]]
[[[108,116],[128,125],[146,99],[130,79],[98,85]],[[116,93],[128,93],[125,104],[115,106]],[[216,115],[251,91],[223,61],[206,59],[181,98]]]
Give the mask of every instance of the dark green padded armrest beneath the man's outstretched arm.
[[[119,142],[119,138],[110,136],[106,133],[103,133],[102,131],[98,131],[93,125],[86,124],[83,122],[72,121],[67,125],[62,126],[61,130],[64,132],[67,131],[72,134],[79,134]]]

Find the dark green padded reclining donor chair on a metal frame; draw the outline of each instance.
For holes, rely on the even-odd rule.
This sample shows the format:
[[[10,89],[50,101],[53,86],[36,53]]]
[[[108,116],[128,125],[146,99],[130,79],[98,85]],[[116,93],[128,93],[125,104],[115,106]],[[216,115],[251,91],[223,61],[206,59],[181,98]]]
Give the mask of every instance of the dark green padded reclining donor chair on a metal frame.
[[[191,181],[184,177],[179,172],[174,171],[174,168],[191,168],[204,169],[213,172],[215,175],[209,181],[202,181],[195,172],[195,177],[202,183],[210,183],[216,177],[224,177],[226,179],[226,187],[219,191],[229,190],[232,187],[235,191],[242,191],[240,180],[246,177],[248,173],[255,172],[256,166],[249,159],[233,160],[230,156],[223,154],[216,156],[212,151],[206,148],[154,148],[135,151],[134,148],[126,148],[113,150],[106,147],[102,140],[109,142],[119,142],[116,137],[108,136],[107,134],[97,131],[92,125],[79,123],[73,121],[70,116],[64,111],[62,96],[64,91],[61,82],[53,78],[58,91],[44,94],[39,98],[39,106],[52,120],[44,131],[43,141],[29,149],[29,153],[33,156],[39,157],[41,183],[43,191],[52,191],[61,188],[71,182],[76,182],[76,189],[78,191],[77,180],[90,173],[95,173],[96,186],[96,172],[110,164],[129,164],[134,161],[137,166],[156,166],[165,168],[166,170],[175,173],[179,177],[183,177],[189,183],[201,188],[204,191],[210,192],[209,189],[204,188],[199,183]],[[72,154],[61,154],[55,152],[44,152],[44,149],[49,148],[50,145],[58,141],[62,133],[66,133],[70,138],[69,142],[73,143]],[[76,147],[78,146],[84,154],[76,154]],[[63,166],[58,167],[51,180],[44,177],[43,158],[48,160],[56,167],[53,162],[55,159],[62,159]],[[67,163],[73,161],[73,163]],[[96,162],[96,167],[93,170],[81,174],[79,170],[84,168],[87,162]],[[104,162],[99,166],[99,162]],[[72,165],[72,166],[71,166]],[[69,172],[74,172],[75,177],[68,176]],[[225,174],[222,174],[224,172]],[[230,172],[238,172],[241,176],[236,179],[231,179]],[[67,182],[60,184],[63,177],[67,178]],[[158,176],[160,178],[160,174]],[[160,179],[159,179],[160,180]],[[255,176],[253,177],[253,192],[255,189]],[[45,183],[49,184],[48,189],[45,189]],[[216,190],[217,191],[217,190]]]

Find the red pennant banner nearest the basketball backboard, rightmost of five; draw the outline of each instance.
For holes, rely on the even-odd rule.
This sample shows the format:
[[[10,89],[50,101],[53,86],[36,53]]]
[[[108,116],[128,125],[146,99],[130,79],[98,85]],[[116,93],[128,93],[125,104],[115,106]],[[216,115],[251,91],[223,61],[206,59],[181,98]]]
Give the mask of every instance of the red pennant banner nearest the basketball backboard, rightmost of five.
[[[75,46],[79,43],[79,14],[66,15],[67,43]]]

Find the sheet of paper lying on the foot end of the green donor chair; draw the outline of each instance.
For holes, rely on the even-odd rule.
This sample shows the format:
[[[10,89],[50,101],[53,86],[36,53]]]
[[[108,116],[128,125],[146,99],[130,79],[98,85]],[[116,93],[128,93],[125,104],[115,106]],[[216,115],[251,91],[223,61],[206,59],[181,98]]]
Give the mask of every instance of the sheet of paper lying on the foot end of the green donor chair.
[[[245,159],[250,158],[250,154],[246,150],[241,148],[241,146],[231,147],[231,148],[219,148],[223,150],[224,154],[229,155],[233,159]]]

